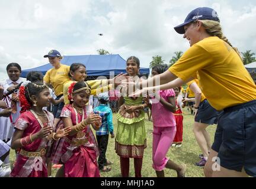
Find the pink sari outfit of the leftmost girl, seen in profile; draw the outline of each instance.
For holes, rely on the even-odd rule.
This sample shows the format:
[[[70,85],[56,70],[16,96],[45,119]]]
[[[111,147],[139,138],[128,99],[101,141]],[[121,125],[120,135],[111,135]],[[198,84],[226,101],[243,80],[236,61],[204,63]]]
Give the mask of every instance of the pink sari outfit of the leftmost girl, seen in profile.
[[[47,112],[50,125],[53,125],[53,115]],[[15,128],[24,131],[23,137],[29,136],[40,131],[41,125],[36,117],[30,111],[21,113]],[[21,149],[27,152],[39,152],[43,148],[47,148],[47,139],[37,139],[28,146]],[[21,154],[17,155],[14,168],[11,171],[11,177],[47,177],[46,155],[43,157],[25,157]]]

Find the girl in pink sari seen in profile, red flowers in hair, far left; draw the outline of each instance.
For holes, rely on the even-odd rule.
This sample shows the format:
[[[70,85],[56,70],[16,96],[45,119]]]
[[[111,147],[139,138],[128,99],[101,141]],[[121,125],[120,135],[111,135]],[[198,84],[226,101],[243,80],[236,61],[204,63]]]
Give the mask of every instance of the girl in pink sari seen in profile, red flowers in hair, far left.
[[[11,177],[47,177],[47,143],[68,135],[71,128],[52,133],[53,115],[44,111],[51,96],[43,83],[27,82],[20,87],[21,115],[15,123],[11,148],[20,149]]]

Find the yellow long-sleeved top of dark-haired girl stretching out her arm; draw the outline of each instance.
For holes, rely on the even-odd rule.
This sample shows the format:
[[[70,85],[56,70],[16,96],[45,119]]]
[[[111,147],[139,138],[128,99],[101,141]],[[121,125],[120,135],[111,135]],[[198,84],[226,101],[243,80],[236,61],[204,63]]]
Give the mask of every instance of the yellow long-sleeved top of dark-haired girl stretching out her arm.
[[[92,95],[96,95],[97,93],[107,92],[108,90],[111,90],[113,88],[112,84],[109,84],[108,86],[105,86],[105,87],[100,87],[103,82],[107,82],[107,80],[90,80],[90,81],[87,81],[87,83],[91,87],[91,94]],[[73,83],[73,81],[69,80],[68,82],[66,82],[64,84],[64,87],[63,87],[63,97],[64,97],[65,105],[69,104],[68,88],[71,85],[71,83]]]

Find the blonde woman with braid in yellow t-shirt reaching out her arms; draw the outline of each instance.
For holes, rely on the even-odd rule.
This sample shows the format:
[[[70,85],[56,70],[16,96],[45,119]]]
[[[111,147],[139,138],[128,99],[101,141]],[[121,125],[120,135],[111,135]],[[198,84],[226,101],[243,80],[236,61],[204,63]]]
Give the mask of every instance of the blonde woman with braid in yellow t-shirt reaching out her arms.
[[[191,11],[185,22],[175,27],[191,47],[168,71],[140,82],[144,89],[134,94],[181,86],[197,77],[210,105],[224,110],[204,174],[256,177],[256,86],[219,22],[211,8]],[[156,83],[162,85],[155,87]]]

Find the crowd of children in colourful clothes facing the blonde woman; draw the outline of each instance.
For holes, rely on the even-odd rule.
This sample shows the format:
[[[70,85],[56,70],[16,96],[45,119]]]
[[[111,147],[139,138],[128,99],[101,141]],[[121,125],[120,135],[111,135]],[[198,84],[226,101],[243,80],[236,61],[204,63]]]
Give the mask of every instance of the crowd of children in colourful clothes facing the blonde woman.
[[[128,58],[126,70],[129,77],[139,80],[139,66],[139,58]],[[164,69],[167,69],[167,65],[155,67],[152,74],[162,73]],[[3,130],[1,132],[1,135],[5,136],[1,138],[0,145],[1,177],[51,177],[52,163],[53,168],[59,168],[56,177],[100,177],[100,171],[111,171],[110,165],[113,162],[105,155],[109,134],[111,138],[115,138],[113,112],[109,105],[111,93],[102,93],[104,90],[111,91],[113,87],[108,84],[110,82],[105,82],[105,86],[102,80],[84,82],[86,78],[84,64],[74,63],[68,73],[71,80],[63,84],[63,96],[56,97],[54,90],[44,84],[41,72],[31,71],[27,74],[27,82],[24,83],[21,83],[21,67],[17,63],[9,64],[7,72],[13,74],[10,74],[9,79],[5,81],[9,84],[1,84],[0,89],[1,129],[8,129],[8,132]],[[100,94],[97,94],[97,90]],[[123,177],[129,177],[129,158],[135,161],[135,176],[142,177],[143,151],[146,148],[144,121],[146,107],[150,107],[152,111],[154,125],[152,159],[156,175],[162,177],[164,167],[176,170],[179,177],[185,175],[185,165],[176,165],[168,158],[158,155],[162,154],[162,151],[167,154],[176,133],[177,124],[173,113],[177,113],[179,105],[177,102],[175,105],[174,90],[167,91],[167,96],[160,97],[161,103],[164,102],[163,105],[160,102],[152,104],[155,97],[151,97],[151,103],[149,96],[129,97],[126,87],[118,93],[117,90],[114,91],[115,99],[111,100],[118,99],[119,104],[115,148],[117,155],[120,156],[120,170]],[[11,95],[4,95],[8,92]],[[167,94],[165,91],[161,92],[161,95],[162,93]],[[91,94],[97,94],[100,102],[100,105],[94,109],[88,103]],[[12,105],[14,100],[16,104],[18,103],[16,108]],[[49,105],[59,105],[62,102],[65,106],[60,115],[54,117],[48,111]],[[13,111],[14,109],[16,112]],[[165,120],[165,123],[159,125],[156,122],[160,120],[156,117],[159,115],[156,109],[165,109],[167,112],[165,118],[161,119]],[[181,124],[182,130],[182,120],[178,124]],[[96,131],[96,138],[90,125]],[[171,138],[161,142],[160,139],[165,135],[171,135]],[[158,145],[164,144],[166,144],[165,149],[157,148]],[[15,149],[16,154],[12,170],[8,159],[10,148]]]

